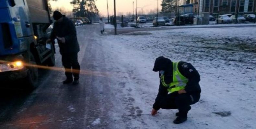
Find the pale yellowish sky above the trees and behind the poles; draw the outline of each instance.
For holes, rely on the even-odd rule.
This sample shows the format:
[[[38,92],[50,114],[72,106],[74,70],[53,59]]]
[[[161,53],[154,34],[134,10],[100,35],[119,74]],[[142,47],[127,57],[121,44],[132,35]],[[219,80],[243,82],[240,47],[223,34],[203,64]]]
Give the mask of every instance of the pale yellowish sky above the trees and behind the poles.
[[[70,5],[72,0],[58,0],[57,2],[50,2],[52,7],[61,7],[67,10],[72,10],[73,5]],[[126,15],[127,12],[133,13],[133,1],[134,1],[134,15],[136,8],[136,0],[116,0],[116,13],[117,15],[123,13]],[[107,16],[107,0],[95,0],[96,6],[99,9],[100,15]],[[114,15],[114,0],[108,0],[109,3],[109,15]],[[158,8],[161,11],[162,0],[158,1]],[[150,10],[157,9],[157,0],[137,0],[138,12],[147,13]]]

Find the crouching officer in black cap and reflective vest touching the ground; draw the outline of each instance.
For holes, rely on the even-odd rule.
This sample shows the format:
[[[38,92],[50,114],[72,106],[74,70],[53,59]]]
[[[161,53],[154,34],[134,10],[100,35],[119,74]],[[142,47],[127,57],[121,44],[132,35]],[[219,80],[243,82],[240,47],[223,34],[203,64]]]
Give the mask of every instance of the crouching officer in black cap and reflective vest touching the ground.
[[[178,109],[173,123],[185,122],[190,105],[200,99],[199,73],[190,63],[172,62],[163,56],[156,59],[153,71],[159,72],[160,85],[151,114],[157,114],[160,108]]]

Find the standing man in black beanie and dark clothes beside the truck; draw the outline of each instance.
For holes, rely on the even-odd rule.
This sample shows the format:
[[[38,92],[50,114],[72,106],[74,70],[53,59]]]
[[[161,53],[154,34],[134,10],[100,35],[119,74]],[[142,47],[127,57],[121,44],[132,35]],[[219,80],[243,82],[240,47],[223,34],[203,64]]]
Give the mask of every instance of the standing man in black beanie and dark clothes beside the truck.
[[[72,20],[62,15],[59,11],[53,12],[55,20],[50,39],[46,42],[58,40],[60,54],[62,55],[62,64],[65,68],[66,80],[63,84],[79,83],[80,65],[77,59],[79,44],[76,38],[76,27]],[[74,81],[73,81],[74,76]]]

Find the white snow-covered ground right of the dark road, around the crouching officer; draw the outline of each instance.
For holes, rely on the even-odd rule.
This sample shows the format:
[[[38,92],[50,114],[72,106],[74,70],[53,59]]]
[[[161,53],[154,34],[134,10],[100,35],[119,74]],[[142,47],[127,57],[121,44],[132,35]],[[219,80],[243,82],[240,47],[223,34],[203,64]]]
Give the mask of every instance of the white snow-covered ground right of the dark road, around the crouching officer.
[[[256,28],[190,28],[161,31],[133,32],[123,35],[103,35],[104,48],[112,51],[122,69],[134,69],[113,76],[120,81],[133,77],[137,83],[126,82],[126,90],[116,92],[112,115],[129,115],[118,104],[123,98],[132,101],[131,111],[141,114],[127,122],[134,128],[156,129],[255,129],[256,128]],[[152,71],[155,58],[164,55],[173,61],[191,63],[200,73],[201,99],[192,105],[188,121],[175,125],[177,110],[160,109],[150,116],[158,91],[158,74]],[[110,62],[109,65],[117,65]],[[124,64],[129,64],[124,65]],[[120,73],[121,74],[121,73]],[[120,78],[122,78],[120,80]],[[142,80],[139,80],[143,78]],[[120,93],[121,92],[121,93]],[[125,93],[127,92],[127,93]],[[138,94],[140,93],[140,94]],[[121,94],[130,94],[124,98]],[[140,107],[140,108],[138,108]],[[137,110],[140,109],[140,110]],[[223,116],[221,116],[221,115]],[[225,116],[227,115],[227,116]],[[117,118],[116,128],[122,128]],[[132,121],[132,122],[131,122]],[[146,123],[146,124],[143,124]],[[143,126],[145,125],[145,126]]]

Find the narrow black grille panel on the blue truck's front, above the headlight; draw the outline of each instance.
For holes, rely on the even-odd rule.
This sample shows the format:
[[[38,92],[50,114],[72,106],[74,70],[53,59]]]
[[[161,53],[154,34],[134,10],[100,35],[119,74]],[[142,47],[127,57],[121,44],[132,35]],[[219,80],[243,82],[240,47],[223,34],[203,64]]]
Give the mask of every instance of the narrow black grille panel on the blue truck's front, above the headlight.
[[[1,23],[1,28],[2,28],[1,31],[3,34],[4,47],[9,48],[12,46],[12,37],[11,37],[10,27],[7,23]]]

